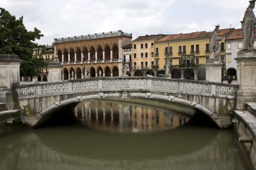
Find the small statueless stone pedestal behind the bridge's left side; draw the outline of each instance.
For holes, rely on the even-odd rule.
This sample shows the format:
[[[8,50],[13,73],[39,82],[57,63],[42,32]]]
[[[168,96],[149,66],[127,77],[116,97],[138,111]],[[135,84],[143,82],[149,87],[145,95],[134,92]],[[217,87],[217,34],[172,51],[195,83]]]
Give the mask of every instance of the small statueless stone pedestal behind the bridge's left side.
[[[48,65],[49,82],[61,81],[61,62],[53,62]]]

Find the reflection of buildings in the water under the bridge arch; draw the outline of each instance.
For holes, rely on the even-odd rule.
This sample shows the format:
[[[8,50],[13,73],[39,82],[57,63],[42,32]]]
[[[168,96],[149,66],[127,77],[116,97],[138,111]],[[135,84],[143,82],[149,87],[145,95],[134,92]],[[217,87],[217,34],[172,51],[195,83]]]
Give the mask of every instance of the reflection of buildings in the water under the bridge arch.
[[[82,101],[75,116],[92,128],[115,132],[168,130],[183,126],[190,118],[172,110],[106,99]]]

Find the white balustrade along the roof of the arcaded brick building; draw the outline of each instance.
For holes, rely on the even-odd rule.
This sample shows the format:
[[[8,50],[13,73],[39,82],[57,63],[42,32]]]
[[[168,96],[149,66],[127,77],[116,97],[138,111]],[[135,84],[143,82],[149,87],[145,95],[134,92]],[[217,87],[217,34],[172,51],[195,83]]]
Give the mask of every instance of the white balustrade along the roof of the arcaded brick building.
[[[110,37],[117,37],[117,36],[129,36],[132,38],[132,34],[128,34],[119,30],[117,32],[103,32],[101,34],[88,34],[84,36],[82,35],[82,36],[73,36],[73,37],[67,37],[67,38],[55,38],[54,43],[56,44],[61,42],[92,40],[92,39],[98,39],[98,38],[110,38]]]

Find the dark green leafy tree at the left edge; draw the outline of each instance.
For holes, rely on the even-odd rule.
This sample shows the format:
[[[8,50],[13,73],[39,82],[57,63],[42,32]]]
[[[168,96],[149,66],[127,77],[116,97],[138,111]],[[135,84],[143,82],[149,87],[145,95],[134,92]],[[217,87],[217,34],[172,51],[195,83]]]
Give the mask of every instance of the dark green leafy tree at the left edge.
[[[33,48],[38,48],[34,41],[39,40],[43,34],[34,28],[26,30],[23,17],[16,19],[8,11],[0,7],[0,54],[16,54],[20,56],[20,75],[33,77],[44,66],[43,58],[32,58]]]

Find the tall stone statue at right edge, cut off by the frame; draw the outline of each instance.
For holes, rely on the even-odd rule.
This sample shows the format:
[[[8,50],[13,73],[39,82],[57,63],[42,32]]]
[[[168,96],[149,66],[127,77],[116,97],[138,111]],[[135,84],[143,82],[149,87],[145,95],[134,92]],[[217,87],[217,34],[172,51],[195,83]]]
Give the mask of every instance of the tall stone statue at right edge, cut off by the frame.
[[[249,3],[243,18],[243,50],[253,51],[256,24],[256,18],[253,13],[255,0],[249,1]]]

